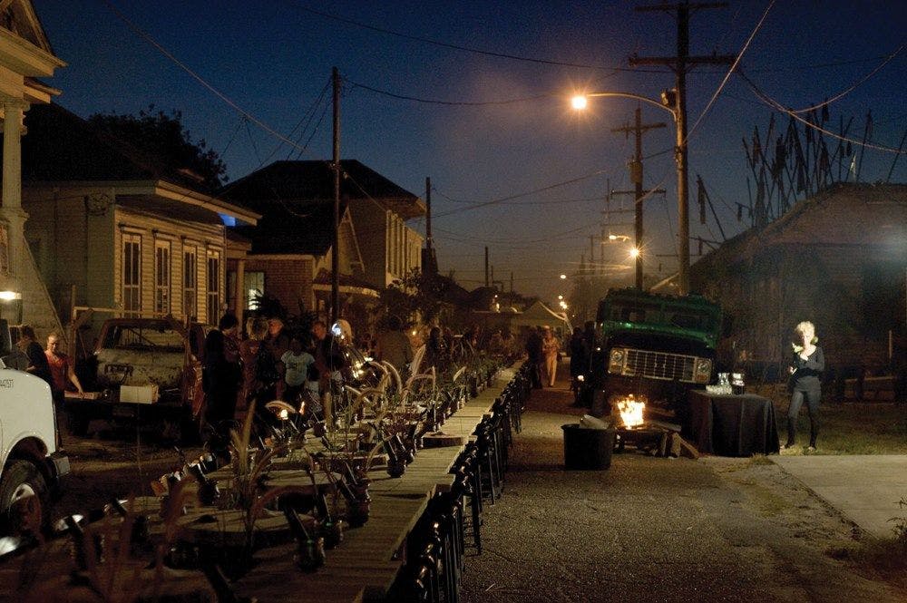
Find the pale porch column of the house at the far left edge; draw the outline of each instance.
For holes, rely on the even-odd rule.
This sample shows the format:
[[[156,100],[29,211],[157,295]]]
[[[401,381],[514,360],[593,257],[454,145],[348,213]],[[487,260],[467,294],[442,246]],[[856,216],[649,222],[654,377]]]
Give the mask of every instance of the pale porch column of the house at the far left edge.
[[[21,293],[22,246],[28,214],[22,209],[22,118],[28,103],[21,99],[2,99],[3,120],[3,198],[0,218],[7,224],[8,287]]]

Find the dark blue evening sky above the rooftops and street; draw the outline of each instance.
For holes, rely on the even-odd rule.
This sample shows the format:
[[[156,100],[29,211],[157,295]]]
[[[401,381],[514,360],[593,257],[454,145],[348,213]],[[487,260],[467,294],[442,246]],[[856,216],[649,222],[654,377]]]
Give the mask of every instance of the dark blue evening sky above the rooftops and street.
[[[345,80],[342,156],[361,160],[419,196],[424,196],[425,177],[432,178],[441,268],[455,270],[466,287],[478,286],[487,245],[495,279],[509,286],[512,273],[518,291],[547,299],[568,293],[558,275],[575,270],[582,255],[588,261],[590,236],[601,231],[609,181],[612,189],[632,188],[625,165],[632,139],[610,129],[632,120],[636,104],[595,99],[589,112],[578,115],[568,105],[571,90],[588,87],[658,98],[674,82],[671,73],[651,73],[657,67],[646,73],[611,69],[628,69],[630,53],[674,53],[673,16],[633,10],[644,4],[654,3],[113,3],[230,101],[300,146],[309,141],[307,150],[300,151],[245,121],[132,31],[104,0],[34,0],[54,52],[69,63],[48,81],[63,90],[57,102],[83,117],[134,113],[151,103],[164,111],[177,109],[193,138],[221,153],[231,180],[273,160],[330,158],[326,86],[336,65]],[[727,8],[697,12],[691,19],[690,53],[738,53],[768,5],[767,0],[732,1]],[[741,64],[768,95],[797,109],[859,83],[884,56],[907,43],[905,32],[907,5],[901,1],[779,0]],[[518,61],[412,38],[574,66]],[[839,118],[853,117],[850,136],[862,140],[865,114],[872,110],[871,141],[896,148],[907,129],[905,76],[907,50],[832,103],[834,130]],[[690,125],[723,77],[721,67],[690,74]],[[444,103],[395,98],[362,86]],[[456,104],[511,100],[515,102]],[[728,236],[747,225],[746,218],[736,220],[736,203],[749,202],[750,171],[741,139],[755,126],[765,132],[771,113],[734,75],[689,138],[691,199],[695,201],[695,179],[701,174]],[[644,105],[642,115],[644,122],[668,122],[667,128],[646,134],[644,153],[669,150],[674,129],[668,112]],[[786,127],[788,118],[778,118]],[[861,180],[885,180],[894,157],[866,151]],[[470,202],[574,179],[581,180],[470,209]],[[907,158],[898,160],[892,181],[907,181]],[[646,187],[667,190],[645,204],[647,270],[654,272],[661,264],[662,276],[676,268],[676,261],[667,257],[674,252],[677,229],[675,182],[670,152],[645,162]],[[628,199],[625,207],[630,207]],[[690,234],[720,238],[715,219],[709,216],[707,225],[699,225],[697,214],[694,204]],[[617,214],[612,221],[627,220]],[[421,222],[413,226],[424,230]],[[605,228],[632,234],[631,228],[616,224]],[[597,262],[621,263],[626,257],[625,245],[611,243],[601,247],[601,260],[595,245]],[[697,245],[691,247],[695,254]],[[631,277],[626,266],[622,273]]]

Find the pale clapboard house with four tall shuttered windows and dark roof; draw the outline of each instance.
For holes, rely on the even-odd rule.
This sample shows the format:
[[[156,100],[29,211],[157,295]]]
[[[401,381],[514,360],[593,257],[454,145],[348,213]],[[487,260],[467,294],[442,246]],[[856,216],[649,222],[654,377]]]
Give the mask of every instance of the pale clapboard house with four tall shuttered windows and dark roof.
[[[97,323],[174,316],[216,324],[229,298],[227,259],[243,253],[223,217],[255,224],[258,214],[60,106],[33,107],[25,125],[25,238],[63,324],[87,307],[97,308]],[[96,326],[83,333],[85,347]]]

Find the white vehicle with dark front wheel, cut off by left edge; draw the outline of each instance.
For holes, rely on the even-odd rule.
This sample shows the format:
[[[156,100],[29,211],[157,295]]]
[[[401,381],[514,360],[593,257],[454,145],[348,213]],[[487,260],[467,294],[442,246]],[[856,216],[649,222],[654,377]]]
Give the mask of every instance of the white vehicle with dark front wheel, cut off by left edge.
[[[50,386],[33,374],[0,368],[0,534],[46,527],[51,495],[67,473],[69,459],[57,450]]]

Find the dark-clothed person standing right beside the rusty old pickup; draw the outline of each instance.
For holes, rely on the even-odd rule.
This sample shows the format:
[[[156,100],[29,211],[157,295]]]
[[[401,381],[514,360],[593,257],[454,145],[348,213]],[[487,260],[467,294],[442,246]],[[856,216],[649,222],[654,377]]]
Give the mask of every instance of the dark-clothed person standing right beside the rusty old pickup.
[[[236,398],[242,379],[236,340],[238,330],[236,316],[225,314],[220,317],[218,328],[205,337],[205,355],[201,366],[201,384],[205,392],[204,417],[221,438],[229,437],[225,423],[232,421],[236,413]]]

